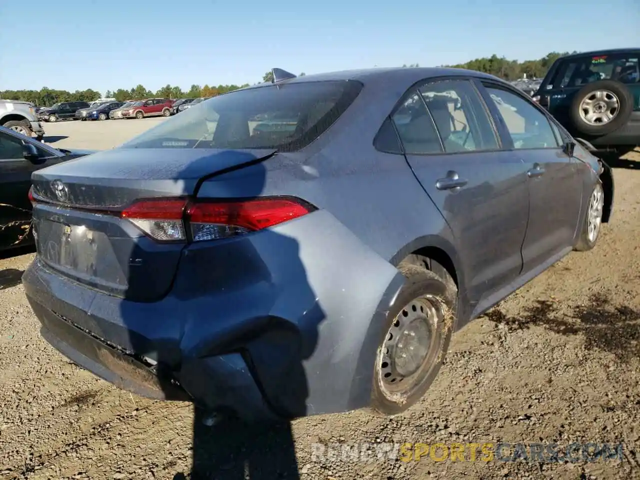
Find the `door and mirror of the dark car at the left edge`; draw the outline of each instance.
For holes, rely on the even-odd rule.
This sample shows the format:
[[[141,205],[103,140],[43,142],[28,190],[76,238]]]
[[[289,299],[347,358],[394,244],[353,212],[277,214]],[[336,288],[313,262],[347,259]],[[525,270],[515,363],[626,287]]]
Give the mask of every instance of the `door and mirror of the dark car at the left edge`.
[[[36,166],[24,159],[22,147],[19,138],[0,132],[0,250],[19,243],[31,221],[31,173],[59,161],[52,157]],[[50,156],[46,150],[38,150],[43,157]]]

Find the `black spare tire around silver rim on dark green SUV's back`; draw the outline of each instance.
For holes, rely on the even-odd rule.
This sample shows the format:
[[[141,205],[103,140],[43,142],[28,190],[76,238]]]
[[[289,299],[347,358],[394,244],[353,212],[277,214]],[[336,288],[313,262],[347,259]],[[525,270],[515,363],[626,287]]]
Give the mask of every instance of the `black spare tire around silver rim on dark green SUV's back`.
[[[595,125],[588,124],[584,118],[582,118],[582,115],[580,115],[580,105],[584,99],[602,90],[613,93],[618,97],[618,109],[614,114],[614,118],[609,120],[609,122]],[[625,125],[633,109],[634,97],[625,84],[614,80],[600,80],[586,84],[575,94],[569,115],[573,127],[578,132],[589,136],[603,136]]]

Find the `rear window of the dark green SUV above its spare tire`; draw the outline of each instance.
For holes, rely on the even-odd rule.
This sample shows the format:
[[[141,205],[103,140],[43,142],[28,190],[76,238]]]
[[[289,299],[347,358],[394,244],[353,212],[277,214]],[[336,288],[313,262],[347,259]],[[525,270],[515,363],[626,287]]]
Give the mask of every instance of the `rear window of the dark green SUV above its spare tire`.
[[[640,81],[639,57],[638,52],[632,52],[568,58],[559,63],[547,88],[583,86],[607,79],[636,83]]]

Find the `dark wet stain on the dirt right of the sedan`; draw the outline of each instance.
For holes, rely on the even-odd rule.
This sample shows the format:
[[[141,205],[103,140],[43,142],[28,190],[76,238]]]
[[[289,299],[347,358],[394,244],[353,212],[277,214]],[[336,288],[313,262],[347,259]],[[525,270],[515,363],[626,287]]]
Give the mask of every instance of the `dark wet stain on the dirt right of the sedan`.
[[[485,316],[511,331],[542,326],[561,335],[580,335],[585,349],[611,353],[624,364],[640,356],[640,310],[613,303],[602,292],[580,305],[563,308],[561,302],[536,300],[521,315],[507,316],[495,307]]]

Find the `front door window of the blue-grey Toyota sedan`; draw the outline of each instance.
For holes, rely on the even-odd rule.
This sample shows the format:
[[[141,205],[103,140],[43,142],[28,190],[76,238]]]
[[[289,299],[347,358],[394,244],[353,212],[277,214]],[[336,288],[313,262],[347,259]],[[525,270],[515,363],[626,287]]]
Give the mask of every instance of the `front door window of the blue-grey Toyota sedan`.
[[[513,92],[486,86],[515,148],[557,148],[560,143],[547,116]]]

